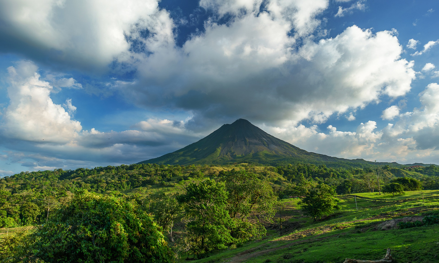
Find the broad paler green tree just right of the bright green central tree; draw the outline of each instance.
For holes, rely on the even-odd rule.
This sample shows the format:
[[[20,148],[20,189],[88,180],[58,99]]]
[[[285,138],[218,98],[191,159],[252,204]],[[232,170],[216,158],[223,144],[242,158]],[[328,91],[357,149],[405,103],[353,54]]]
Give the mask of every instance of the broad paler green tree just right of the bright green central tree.
[[[227,211],[233,221],[231,235],[239,241],[260,238],[266,234],[263,220],[271,220],[277,207],[277,197],[268,181],[245,170],[220,174],[229,197]]]

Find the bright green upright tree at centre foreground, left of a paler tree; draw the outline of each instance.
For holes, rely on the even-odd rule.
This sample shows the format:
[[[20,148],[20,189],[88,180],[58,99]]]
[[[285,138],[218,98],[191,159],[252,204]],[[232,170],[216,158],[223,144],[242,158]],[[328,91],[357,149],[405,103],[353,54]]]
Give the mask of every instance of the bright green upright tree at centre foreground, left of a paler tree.
[[[186,212],[186,241],[198,257],[231,243],[230,216],[227,213],[227,191],[221,182],[207,179],[190,183],[186,193],[177,197]]]

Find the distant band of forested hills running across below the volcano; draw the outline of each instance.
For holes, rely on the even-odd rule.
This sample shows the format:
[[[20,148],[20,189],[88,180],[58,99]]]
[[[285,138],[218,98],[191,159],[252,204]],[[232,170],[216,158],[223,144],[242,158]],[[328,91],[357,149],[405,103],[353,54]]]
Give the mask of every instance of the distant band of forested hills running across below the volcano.
[[[262,167],[262,169],[252,165],[224,168],[231,170],[233,167],[258,174],[259,178],[266,178],[273,188],[274,195],[280,198],[295,195],[291,189],[304,180],[317,185],[329,185],[335,189],[337,194],[378,192],[381,191],[378,188],[379,184],[384,187],[389,183],[399,183],[403,187],[402,191],[420,188],[439,189],[439,167],[434,165],[415,167],[410,170],[384,166],[381,167],[378,178],[374,166],[346,169],[297,163]],[[121,196],[122,192],[134,188],[174,187],[188,178],[217,178],[218,176],[219,172],[207,165],[158,164],[21,172],[11,177],[0,178],[0,227],[41,224],[47,221],[54,209],[64,206],[78,188],[98,194]],[[407,188],[403,182],[392,181],[404,177],[414,178],[419,181],[419,184],[416,188]],[[400,188],[392,185],[392,189]]]

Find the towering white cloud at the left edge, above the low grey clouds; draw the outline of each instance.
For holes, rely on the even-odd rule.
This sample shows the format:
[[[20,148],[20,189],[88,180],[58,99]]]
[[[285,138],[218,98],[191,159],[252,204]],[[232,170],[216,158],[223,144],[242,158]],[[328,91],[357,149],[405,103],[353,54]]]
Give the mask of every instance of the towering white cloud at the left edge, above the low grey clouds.
[[[30,61],[20,61],[9,67],[10,104],[4,113],[4,133],[11,138],[33,142],[68,142],[81,129],[61,105],[53,103],[53,87],[40,79],[37,67]]]

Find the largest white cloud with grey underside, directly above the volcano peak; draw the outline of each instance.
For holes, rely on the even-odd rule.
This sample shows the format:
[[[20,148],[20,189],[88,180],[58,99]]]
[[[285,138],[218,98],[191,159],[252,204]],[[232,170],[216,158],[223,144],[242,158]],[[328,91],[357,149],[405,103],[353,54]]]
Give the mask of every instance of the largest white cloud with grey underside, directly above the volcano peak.
[[[352,26],[335,38],[306,39],[295,51],[292,22],[281,18],[250,13],[227,25],[206,24],[205,33],[182,49],[140,60],[138,78],[119,89],[143,107],[189,111],[192,122],[244,117],[315,123],[410,90],[413,62],[400,58],[394,32]]]

